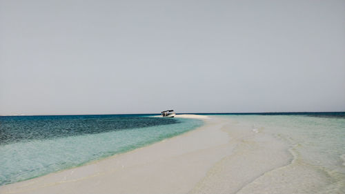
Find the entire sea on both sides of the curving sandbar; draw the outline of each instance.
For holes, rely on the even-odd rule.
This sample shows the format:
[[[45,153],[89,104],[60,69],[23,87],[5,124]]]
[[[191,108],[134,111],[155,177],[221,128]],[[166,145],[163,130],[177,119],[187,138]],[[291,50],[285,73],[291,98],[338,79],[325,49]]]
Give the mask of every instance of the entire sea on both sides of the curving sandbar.
[[[324,190],[319,190],[319,193],[342,193],[345,188],[345,113],[199,115],[223,117],[249,124],[253,132],[267,133],[285,142],[291,155],[290,164],[262,175],[262,180],[271,179],[270,186],[256,191],[266,191],[267,187],[278,189],[282,185],[289,191],[294,186],[306,188],[305,183],[311,184],[313,188],[324,183]],[[204,124],[199,119],[152,116],[0,117],[0,185],[132,151]],[[288,176],[297,171],[299,174]],[[313,183],[315,177],[322,178]],[[248,192],[259,189],[259,182],[251,185],[255,187]],[[313,188],[306,188],[302,193],[311,193],[315,191]],[[280,192],[277,190],[273,193]]]

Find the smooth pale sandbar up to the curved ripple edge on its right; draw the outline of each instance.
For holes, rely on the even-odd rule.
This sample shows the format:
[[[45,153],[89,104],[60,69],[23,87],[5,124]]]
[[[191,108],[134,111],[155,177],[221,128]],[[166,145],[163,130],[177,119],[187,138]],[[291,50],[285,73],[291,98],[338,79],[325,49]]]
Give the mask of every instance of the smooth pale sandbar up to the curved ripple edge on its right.
[[[0,193],[235,193],[290,163],[277,139],[230,119],[86,166],[0,187]],[[268,151],[269,150],[269,151]]]

